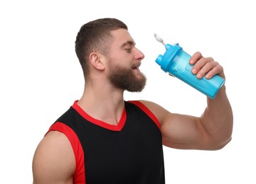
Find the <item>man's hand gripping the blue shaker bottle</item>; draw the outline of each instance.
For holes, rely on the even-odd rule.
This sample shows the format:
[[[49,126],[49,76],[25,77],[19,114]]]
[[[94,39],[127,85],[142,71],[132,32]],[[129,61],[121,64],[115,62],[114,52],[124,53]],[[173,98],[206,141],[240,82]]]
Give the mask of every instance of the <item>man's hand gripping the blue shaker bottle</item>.
[[[212,57],[203,57],[201,52],[193,54],[189,60],[189,64],[193,65],[192,73],[196,75],[198,79],[206,76],[206,79],[210,79],[216,74],[225,79],[223,67],[215,62]]]

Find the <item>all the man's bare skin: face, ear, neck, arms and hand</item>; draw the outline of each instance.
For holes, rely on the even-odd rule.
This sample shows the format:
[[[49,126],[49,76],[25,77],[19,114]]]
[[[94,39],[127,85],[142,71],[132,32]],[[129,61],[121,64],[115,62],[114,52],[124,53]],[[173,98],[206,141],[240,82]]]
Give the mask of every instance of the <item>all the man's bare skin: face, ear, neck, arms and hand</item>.
[[[142,77],[139,66],[144,54],[135,47],[134,40],[124,29],[112,31],[114,41],[110,46],[112,64],[132,69],[134,76]],[[128,44],[129,43],[129,44]],[[90,79],[78,105],[95,119],[117,125],[124,109],[124,90],[114,87],[109,79],[108,58],[100,53],[90,54]],[[219,74],[225,79],[223,67],[200,52],[190,60],[192,72],[200,79],[210,79]],[[217,150],[230,142],[233,130],[233,113],[225,93],[225,86],[214,99],[207,98],[207,107],[201,117],[170,113],[160,105],[142,100],[158,118],[163,144],[176,149]],[[184,133],[186,132],[186,133]],[[75,156],[64,134],[49,132],[38,144],[33,157],[33,183],[73,183]]]

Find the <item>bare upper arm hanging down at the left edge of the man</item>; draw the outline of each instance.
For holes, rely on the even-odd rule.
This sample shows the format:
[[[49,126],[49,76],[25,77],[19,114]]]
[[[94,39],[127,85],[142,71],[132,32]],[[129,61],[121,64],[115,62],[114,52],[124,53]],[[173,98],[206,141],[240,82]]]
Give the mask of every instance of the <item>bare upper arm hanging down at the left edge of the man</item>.
[[[33,157],[33,184],[73,183],[75,156],[68,138],[51,131],[42,139]]]

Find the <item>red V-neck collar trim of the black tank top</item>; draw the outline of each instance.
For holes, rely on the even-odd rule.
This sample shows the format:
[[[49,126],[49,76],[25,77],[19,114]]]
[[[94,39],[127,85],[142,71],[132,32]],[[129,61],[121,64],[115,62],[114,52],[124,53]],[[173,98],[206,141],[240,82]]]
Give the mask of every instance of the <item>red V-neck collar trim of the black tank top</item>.
[[[84,110],[82,110],[82,108],[80,108],[80,106],[78,105],[78,100],[75,100],[74,104],[72,105],[72,107],[82,116],[84,117],[86,120],[92,122],[95,125],[98,125],[100,127],[104,127],[107,130],[113,130],[113,131],[121,131],[122,128],[124,127],[124,124],[126,122],[127,119],[127,113],[126,110],[124,108],[122,115],[120,117],[120,120],[118,122],[117,125],[111,125],[107,122],[103,122],[101,120],[97,120],[94,117],[91,117],[90,115],[88,115],[87,113],[85,113]]]

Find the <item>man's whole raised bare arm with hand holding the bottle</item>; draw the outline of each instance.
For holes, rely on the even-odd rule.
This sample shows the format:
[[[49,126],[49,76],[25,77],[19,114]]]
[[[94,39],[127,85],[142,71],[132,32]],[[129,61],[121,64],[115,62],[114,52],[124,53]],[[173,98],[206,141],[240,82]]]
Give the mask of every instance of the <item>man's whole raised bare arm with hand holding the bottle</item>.
[[[191,57],[192,72],[200,79],[219,74],[225,79],[223,68],[212,58],[200,52]],[[214,99],[207,98],[207,107],[201,117],[170,113],[156,103],[142,100],[156,115],[161,125],[163,144],[177,149],[221,149],[228,144],[233,130],[233,113],[225,93],[225,86]]]

